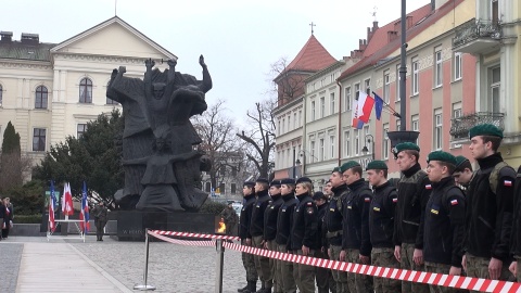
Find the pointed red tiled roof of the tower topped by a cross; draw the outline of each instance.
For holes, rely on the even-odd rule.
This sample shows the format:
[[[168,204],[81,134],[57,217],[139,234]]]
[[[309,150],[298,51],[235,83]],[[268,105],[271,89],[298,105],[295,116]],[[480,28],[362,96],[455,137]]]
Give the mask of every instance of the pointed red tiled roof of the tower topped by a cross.
[[[306,44],[304,44],[298,54],[285,69],[318,72],[334,62],[336,62],[336,60],[328,52],[328,50],[326,50],[326,48],[323,48],[317,38],[312,35]]]

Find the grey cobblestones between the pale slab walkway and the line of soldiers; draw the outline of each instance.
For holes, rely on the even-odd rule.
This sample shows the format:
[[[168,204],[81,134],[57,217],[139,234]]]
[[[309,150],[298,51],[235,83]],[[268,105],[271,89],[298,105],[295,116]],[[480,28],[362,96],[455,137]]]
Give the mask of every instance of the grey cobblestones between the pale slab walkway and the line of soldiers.
[[[127,288],[143,284],[143,242],[117,242],[105,238],[103,242],[69,243]],[[214,292],[216,259],[213,246],[151,242],[148,284],[155,285],[156,292]],[[245,285],[239,252],[225,252],[223,279],[223,292],[226,293],[236,293],[238,288]]]

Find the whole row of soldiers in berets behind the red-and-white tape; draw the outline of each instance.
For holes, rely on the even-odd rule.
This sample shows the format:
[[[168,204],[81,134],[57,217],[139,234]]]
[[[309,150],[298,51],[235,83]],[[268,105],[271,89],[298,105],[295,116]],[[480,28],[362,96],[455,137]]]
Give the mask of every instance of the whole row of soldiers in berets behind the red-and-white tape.
[[[334,260],[494,280],[521,281],[517,174],[497,152],[503,131],[493,125],[469,131],[469,160],[431,152],[427,170],[420,148],[394,149],[402,173],[350,161],[332,170],[323,193],[312,180],[244,182],[240,218],[243,245]],[[521,168],[521,167],[520,167]],[[463,187],[461,189],[460,187]],[[516,196],[514,196],[516,194]],[[242,255],[247,285],[239,292],[458,292],[455,289],[327,270]],[[256,282],[262,288],[257,291]]]

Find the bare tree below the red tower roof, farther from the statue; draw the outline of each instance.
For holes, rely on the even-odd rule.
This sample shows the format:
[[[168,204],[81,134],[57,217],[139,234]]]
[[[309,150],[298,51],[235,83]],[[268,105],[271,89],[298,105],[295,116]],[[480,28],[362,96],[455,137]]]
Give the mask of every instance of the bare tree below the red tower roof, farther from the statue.
[[[242,130],[237,136],[245,142],[246,157],[254,164],[258,175],[268,178],[271,169],[271,155],[275,148],[275,118],[272,111],[276,102],[266,99],[255,103],[253,111],[246,112],[251,130]]]

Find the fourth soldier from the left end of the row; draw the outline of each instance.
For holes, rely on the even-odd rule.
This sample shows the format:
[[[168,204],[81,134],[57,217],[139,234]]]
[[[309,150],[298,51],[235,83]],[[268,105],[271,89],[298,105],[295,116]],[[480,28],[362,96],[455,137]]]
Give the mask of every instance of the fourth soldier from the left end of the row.
[[[277,217],[277,250],[280,253],[289,253],[288,243],[291,232],[293,212],[298,201],[295,199],[295,180],[285,178],[280,180],[280,194],[284,201]],[[293,279],[293,264],[290,262],[277,260],[277,275],[281,276],[282,292],[296,293],[295,279]]]

